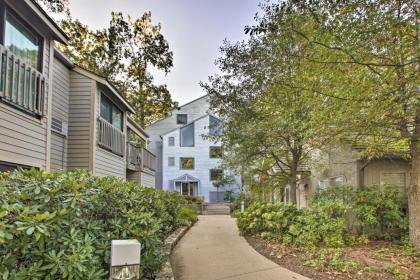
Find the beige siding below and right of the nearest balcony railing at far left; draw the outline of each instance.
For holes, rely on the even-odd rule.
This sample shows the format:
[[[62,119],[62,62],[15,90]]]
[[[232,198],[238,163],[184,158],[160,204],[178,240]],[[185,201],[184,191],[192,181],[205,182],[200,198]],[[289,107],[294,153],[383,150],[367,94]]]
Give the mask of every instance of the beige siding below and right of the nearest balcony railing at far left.
[[[50,40],[44,42],[43,75],[50,79]],[[49,82],[45,93],[49,95]],[[48,96],[46,96],[48,97]],[[44,108],[49,110],[44,98]],[[48,118],[37,118],[0,102],[0,161],[47,169]]]

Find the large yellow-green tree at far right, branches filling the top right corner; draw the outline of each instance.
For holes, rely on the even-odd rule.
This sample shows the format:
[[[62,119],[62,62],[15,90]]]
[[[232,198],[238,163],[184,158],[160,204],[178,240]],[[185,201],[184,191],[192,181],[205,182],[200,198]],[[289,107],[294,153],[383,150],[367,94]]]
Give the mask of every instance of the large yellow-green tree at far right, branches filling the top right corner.
[[[367,157],[411,159],[410,238],[420,245],[419,14],[416,0],[285,1],[268,6],[252,32],[286,30],[318,65],[308,88],[336,98],[334,125],[366,147]],[[284,25],[283,11],[305,18]],[[345,100],[346,102],[342,102]]]

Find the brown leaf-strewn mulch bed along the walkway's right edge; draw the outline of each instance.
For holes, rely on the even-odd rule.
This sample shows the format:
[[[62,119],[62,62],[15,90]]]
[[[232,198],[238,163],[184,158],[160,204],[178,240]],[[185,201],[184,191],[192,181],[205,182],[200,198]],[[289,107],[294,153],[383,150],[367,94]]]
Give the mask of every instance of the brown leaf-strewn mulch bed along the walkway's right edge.
[[[418,257],[406,256],[399,246],[385,241],[371,241],[368,245],[346,248],[347,259],[359,263],[359,269],[339,272],[321,271],[305,265],[310,257],[307,253],[293,248],[280,251],[279,244],[259,237],[245,236],[248,243],[261,255],[291,271],[314,280],[420,280],[420,260]],[[393,275],[386,272],[384,267],[397,265],[405,275]]]

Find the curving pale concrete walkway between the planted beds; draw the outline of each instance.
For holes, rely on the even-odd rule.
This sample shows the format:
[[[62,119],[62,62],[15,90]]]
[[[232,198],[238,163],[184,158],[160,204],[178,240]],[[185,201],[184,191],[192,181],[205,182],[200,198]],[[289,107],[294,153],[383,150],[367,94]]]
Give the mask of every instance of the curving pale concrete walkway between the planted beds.
[[[309,279],[256,252],[226,215],[200,216],[175,247],[171,262],[176,280]]]

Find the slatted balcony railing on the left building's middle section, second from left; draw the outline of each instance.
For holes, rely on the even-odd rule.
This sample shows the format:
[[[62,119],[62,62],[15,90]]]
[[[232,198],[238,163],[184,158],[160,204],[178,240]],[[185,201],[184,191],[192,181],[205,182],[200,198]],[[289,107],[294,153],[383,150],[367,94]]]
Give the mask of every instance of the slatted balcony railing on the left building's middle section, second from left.
[[[98,117],[98,145],[114,154],[124,156],[125,135],[120,129]]]

